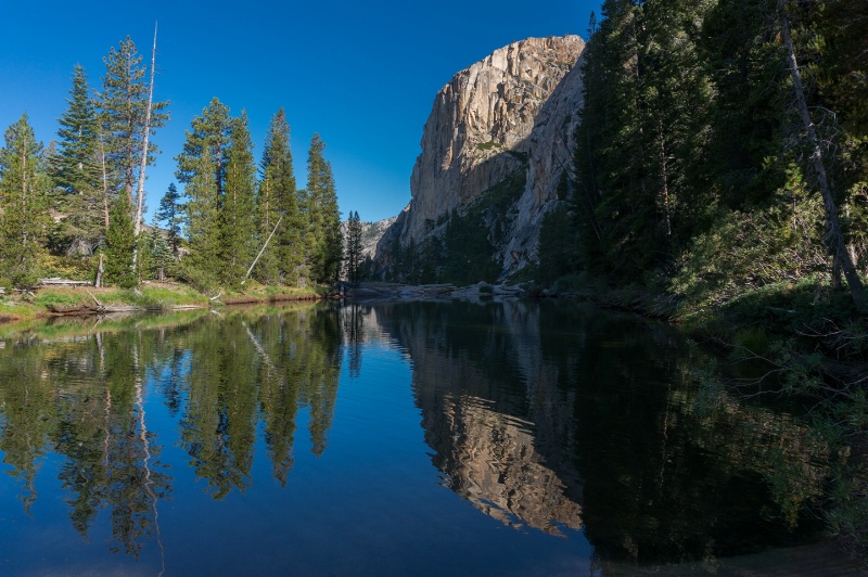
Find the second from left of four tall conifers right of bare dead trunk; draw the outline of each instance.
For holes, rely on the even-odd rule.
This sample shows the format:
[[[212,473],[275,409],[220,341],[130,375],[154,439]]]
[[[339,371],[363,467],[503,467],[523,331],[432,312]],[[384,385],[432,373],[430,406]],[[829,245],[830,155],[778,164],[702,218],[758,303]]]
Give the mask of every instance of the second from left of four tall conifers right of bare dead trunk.
[[[256,167],[253,144],[247,130],[247,115],[233,118],[226,168],[226,193],[221,210],[220,253],[221,281],[238,284],[257,252],[254,218]]]

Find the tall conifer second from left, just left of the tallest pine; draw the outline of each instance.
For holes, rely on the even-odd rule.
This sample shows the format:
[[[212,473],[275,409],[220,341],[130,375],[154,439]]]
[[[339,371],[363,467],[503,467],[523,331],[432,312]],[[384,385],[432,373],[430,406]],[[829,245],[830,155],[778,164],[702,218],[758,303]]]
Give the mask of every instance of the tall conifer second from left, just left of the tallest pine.
[[[90,256],[103,242],[99,123],[85,68],[76,65],[68,106],[58,120],[58,150],[49,154],[54,208],[64,215],[54,231],[55,249]]]

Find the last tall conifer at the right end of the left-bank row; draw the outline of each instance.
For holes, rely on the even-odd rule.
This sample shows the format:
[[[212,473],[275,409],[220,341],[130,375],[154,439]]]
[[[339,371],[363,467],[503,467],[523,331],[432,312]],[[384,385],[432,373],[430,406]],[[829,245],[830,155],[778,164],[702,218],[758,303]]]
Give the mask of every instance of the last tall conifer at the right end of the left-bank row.
[[[331,164],[323,157],[326,143],[319,134],[310,140],[307,159],[307,204],[310,275],[316,282],[337,280],[343,260],[341,213]]]

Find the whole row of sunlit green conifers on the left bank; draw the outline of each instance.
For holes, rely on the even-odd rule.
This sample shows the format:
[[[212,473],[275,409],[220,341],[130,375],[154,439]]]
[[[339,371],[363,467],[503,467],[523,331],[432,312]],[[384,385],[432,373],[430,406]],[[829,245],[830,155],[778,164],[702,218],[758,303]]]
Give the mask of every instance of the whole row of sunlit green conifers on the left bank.
[[[26,114],[5,130],[0,286],[29,288],[43,277],[123,287],[174,278],[202,291],[248,274],[264,284],[335,281],[343,248],[326,144],[314,136],[298,189],[282,108],[257,165],[246,114],[212,100],[175,158],[181,190],[169,185],[145,226],[145,171],[158,152],[151,137],[169,119],[168,102],[153,100],[155,48],[150,67],[129,38],[112,48],[95,90],[76,66],[48,146]]]

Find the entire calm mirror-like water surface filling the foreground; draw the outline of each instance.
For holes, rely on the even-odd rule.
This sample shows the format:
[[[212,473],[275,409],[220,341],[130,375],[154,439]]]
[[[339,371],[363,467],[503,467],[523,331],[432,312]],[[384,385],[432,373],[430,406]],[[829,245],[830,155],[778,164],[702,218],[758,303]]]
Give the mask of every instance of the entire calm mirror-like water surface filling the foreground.
[[[573,304],[0,328],[0,575],[736,572],[827,454],[715,371]]]

